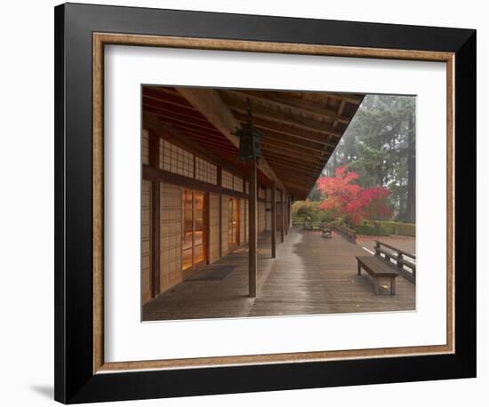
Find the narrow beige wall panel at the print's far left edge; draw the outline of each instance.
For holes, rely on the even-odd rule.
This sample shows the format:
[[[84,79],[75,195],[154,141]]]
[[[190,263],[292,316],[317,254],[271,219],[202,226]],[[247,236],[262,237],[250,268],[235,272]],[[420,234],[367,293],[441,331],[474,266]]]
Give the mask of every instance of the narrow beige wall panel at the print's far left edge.
[[[141,301],[151,299],[151,181],[142,181],[141,191]]]

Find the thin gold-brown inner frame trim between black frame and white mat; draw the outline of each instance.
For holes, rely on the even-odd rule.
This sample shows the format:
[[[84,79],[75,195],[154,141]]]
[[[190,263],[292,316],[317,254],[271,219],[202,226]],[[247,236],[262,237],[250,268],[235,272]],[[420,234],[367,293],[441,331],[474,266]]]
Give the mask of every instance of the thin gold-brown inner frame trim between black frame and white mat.
[[[214,356],[186,359],[105,363],[103,329],[103,77],[104,45],[136,45],[200,50],[269,52],[389,60],[427,60],[446,64],[446,344],[420,347],[382,347],[356,350],[297,352],[269,355]],[[299,363],[389,356],[450,354],[455,350],[454,326],[454,53],[317,44],[139,36],[93,33],[93,373],[217,367],[242,364]]]

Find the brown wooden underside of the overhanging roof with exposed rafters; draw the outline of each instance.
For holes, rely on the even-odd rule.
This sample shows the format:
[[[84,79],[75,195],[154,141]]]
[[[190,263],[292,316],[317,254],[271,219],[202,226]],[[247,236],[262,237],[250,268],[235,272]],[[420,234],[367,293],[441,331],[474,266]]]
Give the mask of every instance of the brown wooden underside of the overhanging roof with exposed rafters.
[[[261,149],[264,159],[268,169],[272,170],[261,168],[259,182],[271,185],[271,173],[295,199],[305,199],[309,195],[365,96],[208,89],[196,92],[209,92],[203,94],[204,98],[212,96],[208,98],[212,99],[212,108],[218,107],[220,111],[210,114],[206,106],[203,114],[196,108],[202,103],[196,104],[194,98],[188,97],[189,92],[192,88],[144,86],[143,110],[157,116],[174,132],[247,173],[246,165],[236,161],[236,140],[231,139],[228,129],[246,121],[249,103],[253,124],[263,134]],[[205,99],[203,103],[206,103]],[[227,127],[216,123],[220,117],[228,117]]]

